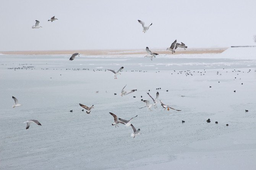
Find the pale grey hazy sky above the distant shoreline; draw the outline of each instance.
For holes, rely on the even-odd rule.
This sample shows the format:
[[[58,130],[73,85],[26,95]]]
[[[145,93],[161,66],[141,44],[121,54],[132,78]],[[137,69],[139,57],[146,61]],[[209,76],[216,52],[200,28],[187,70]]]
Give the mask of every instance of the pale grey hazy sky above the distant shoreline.
[[[2,0],[0,51],[255,45],[255,18],[256,0]]]

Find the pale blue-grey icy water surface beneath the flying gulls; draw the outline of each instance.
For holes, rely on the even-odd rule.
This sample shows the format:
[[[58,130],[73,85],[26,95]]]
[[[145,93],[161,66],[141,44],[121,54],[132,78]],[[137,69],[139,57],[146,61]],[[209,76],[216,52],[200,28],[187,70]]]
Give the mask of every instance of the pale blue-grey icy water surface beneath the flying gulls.
[[[0,55],[0,169],[256,169],[256,60],[175,57]],[[148,90],[181,111],[138,109]]]

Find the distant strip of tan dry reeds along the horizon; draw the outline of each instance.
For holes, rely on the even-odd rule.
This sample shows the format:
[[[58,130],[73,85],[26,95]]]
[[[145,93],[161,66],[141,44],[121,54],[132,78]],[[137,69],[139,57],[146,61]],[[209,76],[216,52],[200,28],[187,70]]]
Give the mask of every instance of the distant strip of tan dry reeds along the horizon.
[[[204,54],[204,53],[222,53],[227,48],[188,48],[177,49],[173,55],[178,54]],[[171,51],[162,49],[151,49],[152,52],[158,54],[171,54]],[[49,50],[49,51],[0,51],[3,55],[71,55],[73,53],[81,53],[82,55],[146,55],[146,50]]]

